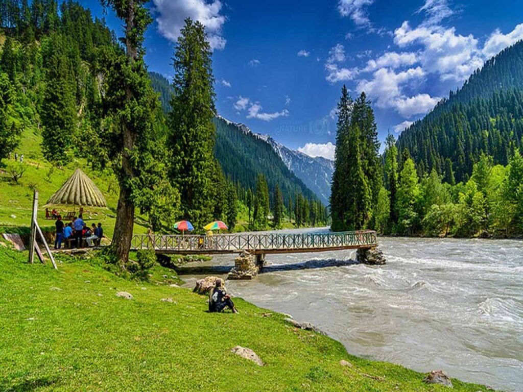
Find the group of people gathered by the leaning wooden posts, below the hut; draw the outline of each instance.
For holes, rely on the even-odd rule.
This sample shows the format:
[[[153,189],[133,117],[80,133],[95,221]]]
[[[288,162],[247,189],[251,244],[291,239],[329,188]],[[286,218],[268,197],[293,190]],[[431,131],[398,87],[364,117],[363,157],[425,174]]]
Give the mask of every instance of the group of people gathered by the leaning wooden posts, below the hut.
[[[99,244],[99,241],[104,237],[104,229],[101,227],[101,223],[98,223],[98,226],[93,223],[89,227],[84,222],[82,215],[75,216],[73,221],[67,224],[62,221],[62,216],[58,215],[55,226],[54,249],[61,249],[64,240],[74,240],[72,245],[76,248],[82,248],[84,239],[87,246],[94,246]]]

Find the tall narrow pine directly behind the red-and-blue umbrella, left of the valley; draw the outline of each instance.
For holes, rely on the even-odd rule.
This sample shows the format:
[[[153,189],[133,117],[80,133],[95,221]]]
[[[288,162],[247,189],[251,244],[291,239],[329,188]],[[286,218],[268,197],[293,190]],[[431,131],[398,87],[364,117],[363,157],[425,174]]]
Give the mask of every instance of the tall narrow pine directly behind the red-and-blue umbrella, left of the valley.
[[[187,18],[173,58],[170,175],[180,190],[184,217],[197,226],[206,224],[212,213],[215,129],[211,54],[203,25]]]

